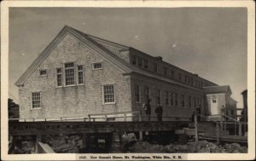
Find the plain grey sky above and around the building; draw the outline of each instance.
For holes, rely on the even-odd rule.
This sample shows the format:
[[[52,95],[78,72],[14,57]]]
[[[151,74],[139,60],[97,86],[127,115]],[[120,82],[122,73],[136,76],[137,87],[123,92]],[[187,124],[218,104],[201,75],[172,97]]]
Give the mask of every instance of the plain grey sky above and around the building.
[[[245,8],[10,8],[9,97],[15,82],[65,26],[139,49],[218,85],[242,107],[247,89]]]

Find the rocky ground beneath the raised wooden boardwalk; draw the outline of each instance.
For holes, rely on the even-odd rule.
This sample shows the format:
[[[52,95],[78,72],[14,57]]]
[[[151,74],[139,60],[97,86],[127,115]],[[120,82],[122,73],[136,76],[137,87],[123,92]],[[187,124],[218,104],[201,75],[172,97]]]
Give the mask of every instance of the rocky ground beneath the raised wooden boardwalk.
[[[42,138],[56,153],[79,153],[82,147],[82,135],[46,135]],[[34,153],[35,141],[22,141],[15,146],[12,153]],[[162,146],[150,144],[147,141],[130,141],[120,146],[119,142],[112,144],[110,153],[119,152],[154,152],[154,153],[247,153],[247,147],[237,143],[216,145],[209,141],[177,143]]]

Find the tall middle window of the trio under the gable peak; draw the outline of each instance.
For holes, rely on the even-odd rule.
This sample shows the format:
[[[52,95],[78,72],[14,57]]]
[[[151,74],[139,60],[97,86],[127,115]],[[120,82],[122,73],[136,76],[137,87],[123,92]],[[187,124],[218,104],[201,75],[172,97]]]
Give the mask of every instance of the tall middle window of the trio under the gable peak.
[[[65,83],[66,85],[74,85],[74,65],[73,63],[65,64]]]

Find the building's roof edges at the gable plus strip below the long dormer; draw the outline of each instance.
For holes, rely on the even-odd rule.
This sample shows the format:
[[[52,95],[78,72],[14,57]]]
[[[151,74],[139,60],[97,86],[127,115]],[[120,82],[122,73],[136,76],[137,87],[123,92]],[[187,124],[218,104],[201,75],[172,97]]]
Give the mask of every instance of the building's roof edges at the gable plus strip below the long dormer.
[[[166,78],[164,76],[161,76],[160,74],[150,72],[150,71],[145,71],[143,69],[140,69],[137,66],[132,66],[130,63],[126,62],[125,60],[122,60],[118,55],[113,54],[113,52],[107,49],[105,45],[111,46],[119,51],[131,50],[132,49],[131,47],[127,47],[119,43],[113,43],[111,41],[108,41],[99,37],[91,36],[84,32],[80,32],[70,26],[63,27],[61,32],[59,32],[57,36],[53,39],[53,41],[49,43],[49,45],[38,56],[38,58],[32,62],[32,65],[28,67],[28,69],[26,70],[26,72],[24,72],[24,74],[22,74],[22,76],[15,83],[15,85],[22,86],[26,82],[26,79],[32,75],[32,73],[38,68],[38,66],[40,66],[40,64],[47,58],[47,56],[51,53],[51,51],[55,49],[55,47],[61,42],[61,40],[68,33],[72,34],[74,37],[79,39],[81,43],[84,43],[90,49],[96,51],[96,53],[102,55],[102,58],[111,62],[113,66],[118,67],[119,70],[121,70],[124,74],[138,73],[138,74],[142,74],[143,76],[160,79],[161,81],[165,81],[168,83],[175,83],[179,86],[187,87],[190,89],[201,90],[184,83],[179,83],[178,81],[172,80],[171,78]]]

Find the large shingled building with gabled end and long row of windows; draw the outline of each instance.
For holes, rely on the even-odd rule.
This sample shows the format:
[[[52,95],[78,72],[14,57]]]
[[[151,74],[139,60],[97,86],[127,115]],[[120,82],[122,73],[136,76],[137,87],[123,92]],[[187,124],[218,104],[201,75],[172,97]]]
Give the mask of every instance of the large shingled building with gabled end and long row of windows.
[[[191,118],[196,106],[214,117],[230,106],[218,86],[142,51],[65,26],[15,83],[20,118],[61,118],[142,111],[151,99],[165,119]]]

